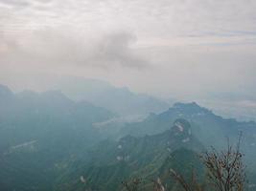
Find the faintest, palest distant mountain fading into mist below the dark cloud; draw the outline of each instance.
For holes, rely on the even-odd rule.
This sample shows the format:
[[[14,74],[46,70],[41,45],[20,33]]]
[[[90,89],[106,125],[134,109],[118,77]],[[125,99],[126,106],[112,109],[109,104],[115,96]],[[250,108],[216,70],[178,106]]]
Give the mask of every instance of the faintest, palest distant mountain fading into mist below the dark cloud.
[[[49,88],[74,99],[86,100],[121,116],[148,115],[168,109],[169,103],[147,94],[135,94],[126,87],[115,87],[108,82],[75,76],[60,77]]]

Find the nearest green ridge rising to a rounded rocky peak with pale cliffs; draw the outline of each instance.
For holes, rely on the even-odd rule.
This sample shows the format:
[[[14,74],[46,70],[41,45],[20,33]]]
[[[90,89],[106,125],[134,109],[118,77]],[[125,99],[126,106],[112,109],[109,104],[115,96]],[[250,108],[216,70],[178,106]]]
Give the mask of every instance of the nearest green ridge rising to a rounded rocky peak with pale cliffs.
[[[180,118],[161,134],[101,142],[90,150],[88,161],[69,166],[68,173],[59,179],[57,190],[121,190],[121,181],[132,177],[149,180],[149,184],[150,180],[161,177],[174,186],[175,182],[166,178],[168,169],[173,167],[188,174],[194,163],[201,172],[196,157],[201,151],[203,146],[191,134],[189,122]],[[180,169],[182,165],[188,168]],[[70,187],[65,187],[66,183]]]

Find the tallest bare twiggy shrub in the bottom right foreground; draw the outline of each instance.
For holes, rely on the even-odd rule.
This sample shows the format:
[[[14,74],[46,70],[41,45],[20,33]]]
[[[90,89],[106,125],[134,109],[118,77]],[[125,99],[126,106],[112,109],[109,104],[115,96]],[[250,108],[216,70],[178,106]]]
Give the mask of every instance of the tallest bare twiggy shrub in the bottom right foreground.
[[[218,152],[212,148],[205,152],[202,162],[207,169],[207,178],[219,191],[242,191],[245,184],[245,166],[240,151],[241,136],[236,148],[227,145],[227,150]]]

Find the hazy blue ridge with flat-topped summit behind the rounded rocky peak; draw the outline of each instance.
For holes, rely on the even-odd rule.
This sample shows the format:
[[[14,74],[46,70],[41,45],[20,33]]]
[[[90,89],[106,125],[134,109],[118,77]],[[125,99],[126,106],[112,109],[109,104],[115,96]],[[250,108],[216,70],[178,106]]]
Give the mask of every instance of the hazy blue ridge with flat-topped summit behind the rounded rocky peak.
[[[256,123],[254,121],[237,121],[234,118],[223,118],[212,111],[200,107],[197,103],[175,103],[168,111],[159,115],[151,114],[145,120],[128,123],[121,129],[121,135],[141,137],[154,135],[169,129],[176,118],[184,118],[193,126],[192,131],[205,146],[222,148],[226,138],[236,142],[243,134],[242,147],[247,159],[253,159],[256,149]],[[256,164],[253,164],[256,165]]]

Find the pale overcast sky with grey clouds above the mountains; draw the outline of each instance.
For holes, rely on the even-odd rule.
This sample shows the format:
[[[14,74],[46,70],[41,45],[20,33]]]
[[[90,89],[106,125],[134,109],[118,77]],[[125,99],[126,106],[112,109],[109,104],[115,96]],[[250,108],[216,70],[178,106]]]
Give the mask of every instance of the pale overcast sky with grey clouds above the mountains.
[[[255,10],[255,0],[0,0],[0,83],[71,74],[155,96],[246,99]]]

